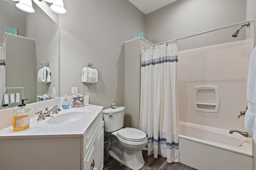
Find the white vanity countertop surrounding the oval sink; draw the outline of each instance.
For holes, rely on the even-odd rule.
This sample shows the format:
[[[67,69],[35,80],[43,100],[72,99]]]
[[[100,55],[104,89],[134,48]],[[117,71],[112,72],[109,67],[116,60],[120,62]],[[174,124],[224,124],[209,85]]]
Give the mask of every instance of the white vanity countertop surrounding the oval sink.
[[[22,131],[13,131],[12,126],[0,131],[0,139],[11,138],[40,138],[40,137],[81,137],[96,116],[102,111],[102,106],[88,104],[84,107],[70,107],[62,109],[58,114],[45,117],[37,121],[37,116],[30,119],[30,127]],[[72,114],[72,111],[86,111],[86,117],[77,121],[62,124],[50,124],[47,121],[61,114]],[[71,112],[71,113],[67,113]],[[57,118],[57,117],[56,117]]]

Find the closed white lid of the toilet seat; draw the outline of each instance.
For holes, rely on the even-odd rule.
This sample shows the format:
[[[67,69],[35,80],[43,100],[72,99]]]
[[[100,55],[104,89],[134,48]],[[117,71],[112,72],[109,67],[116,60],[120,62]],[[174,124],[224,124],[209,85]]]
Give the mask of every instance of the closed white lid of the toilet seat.
[[[131,127],[118,130],[117,135],[128,141],[143,141],[146,138],[146,134],[144,132]]]

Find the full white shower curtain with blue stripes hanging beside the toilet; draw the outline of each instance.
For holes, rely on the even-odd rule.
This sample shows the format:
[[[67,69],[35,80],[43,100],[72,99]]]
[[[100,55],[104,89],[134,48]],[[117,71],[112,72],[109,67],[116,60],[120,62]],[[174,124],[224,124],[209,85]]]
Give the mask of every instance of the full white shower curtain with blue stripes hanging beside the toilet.
[[[141,51],[140,130],[148,138],[148,155],[179,162],[177,42]]]

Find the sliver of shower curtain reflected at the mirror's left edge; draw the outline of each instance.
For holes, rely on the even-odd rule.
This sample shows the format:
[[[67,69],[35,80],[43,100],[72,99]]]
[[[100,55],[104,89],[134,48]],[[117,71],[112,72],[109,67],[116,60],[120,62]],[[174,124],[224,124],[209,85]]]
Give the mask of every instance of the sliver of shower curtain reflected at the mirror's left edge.
[[[0,45],[0,106],[3,104],[4,88],[6,87],[6,48]],[[0,107],[1,108],[1,107]]]

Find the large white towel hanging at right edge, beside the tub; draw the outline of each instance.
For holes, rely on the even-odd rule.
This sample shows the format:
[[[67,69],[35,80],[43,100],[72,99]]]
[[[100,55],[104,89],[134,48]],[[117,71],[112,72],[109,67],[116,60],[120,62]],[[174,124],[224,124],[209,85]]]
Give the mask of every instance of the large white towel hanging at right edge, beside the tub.
[[[248,79],[247,79],[247,92],[246,99],[248,102],[248,109],[244,117],[244,127],[246,131],[253,133],[254,129],[256,131],[256,47],[253,49],[249,66],[248,66]],[[253,135],[256,139],[256,135]],[[254,139],[254,141],[256,141]]]

